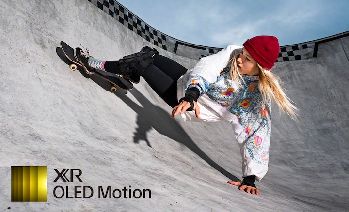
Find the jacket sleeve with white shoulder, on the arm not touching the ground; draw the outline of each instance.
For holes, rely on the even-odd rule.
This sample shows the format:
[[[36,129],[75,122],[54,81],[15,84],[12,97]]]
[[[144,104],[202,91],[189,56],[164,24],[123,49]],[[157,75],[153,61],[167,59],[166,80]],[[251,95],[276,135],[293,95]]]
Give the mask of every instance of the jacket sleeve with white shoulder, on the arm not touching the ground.
[[[222,70],[227,67],[229,60],[240,49],[239,46],[229,45],[220,52],[200,59],[191,70],[185,89],[196,87],[204,95],[211,83],[217,80]]]

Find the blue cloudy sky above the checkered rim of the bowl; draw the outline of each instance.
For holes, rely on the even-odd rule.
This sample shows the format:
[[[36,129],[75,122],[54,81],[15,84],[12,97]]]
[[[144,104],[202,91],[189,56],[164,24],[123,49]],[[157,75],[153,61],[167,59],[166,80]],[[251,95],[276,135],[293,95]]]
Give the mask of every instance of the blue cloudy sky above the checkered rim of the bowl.
[[[280,46],[349,31],[349,0],[117,0],[160,32],[224,48],[257,35]]]

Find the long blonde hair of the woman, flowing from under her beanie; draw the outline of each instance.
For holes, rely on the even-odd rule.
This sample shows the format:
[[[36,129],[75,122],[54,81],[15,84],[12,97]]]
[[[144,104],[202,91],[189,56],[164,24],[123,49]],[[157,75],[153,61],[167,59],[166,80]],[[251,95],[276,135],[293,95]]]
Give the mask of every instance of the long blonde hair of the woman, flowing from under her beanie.
[[[240,53],[235,54],[230,60],[230,75],[232,80],[235,81],[238,86],[242,87],[242,83],[245,84],[240,72],[238,71],[237,59]],[[258,88],[262,95],[262,104],[266,104],[269,101],[269,97],[275,101],[280,110],[287,113],[293,120],[297,121],[297,108],[293,105],[292,100],[288,98],[280,83],[281,80],[271,71],[265,70],[261,65],[257,63],[259,68],[259,83]]]

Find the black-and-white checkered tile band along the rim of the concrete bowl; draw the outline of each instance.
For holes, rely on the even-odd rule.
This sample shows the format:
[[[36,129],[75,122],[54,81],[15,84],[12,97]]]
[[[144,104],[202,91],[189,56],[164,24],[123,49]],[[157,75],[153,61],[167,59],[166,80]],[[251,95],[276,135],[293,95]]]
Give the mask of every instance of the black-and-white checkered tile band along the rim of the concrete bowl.
[[[222,48],[213,48],[202,45],[194,45],[179,41],[173,37],[165,35],[158,30],[150,27],[141,18],[137,17],[124,6],[115,0],[88,0],[99,9],[106,12],[108,15],[126,26],[129,30],[137,33],[148,42],[159,46],[160,48],[173,52],[175,54],[187,57],[190,59],[200,59],[211,54],[215,54],[222,50]],[[330,40],[338,39],[340,37],[348,36],[349,32],[344,32],[332,37],[319,39],[317,41],[298,44],[287,45],[280,47],[279,57],[276,62],[295,61],[317,57],[317,49],[320,43]]]

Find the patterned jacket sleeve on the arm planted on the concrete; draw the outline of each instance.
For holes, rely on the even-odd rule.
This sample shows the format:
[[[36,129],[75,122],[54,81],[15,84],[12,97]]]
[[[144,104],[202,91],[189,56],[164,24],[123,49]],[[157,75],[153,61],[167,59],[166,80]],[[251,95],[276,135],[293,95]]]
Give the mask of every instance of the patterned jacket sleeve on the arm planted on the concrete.
[[[240,117],[240,121],[247,125],[241,125],[243,131],[235,136],[242,156],[243,177],[255,175],[260,181],[268,171],[271,134],[270,101],[251,113]]]

